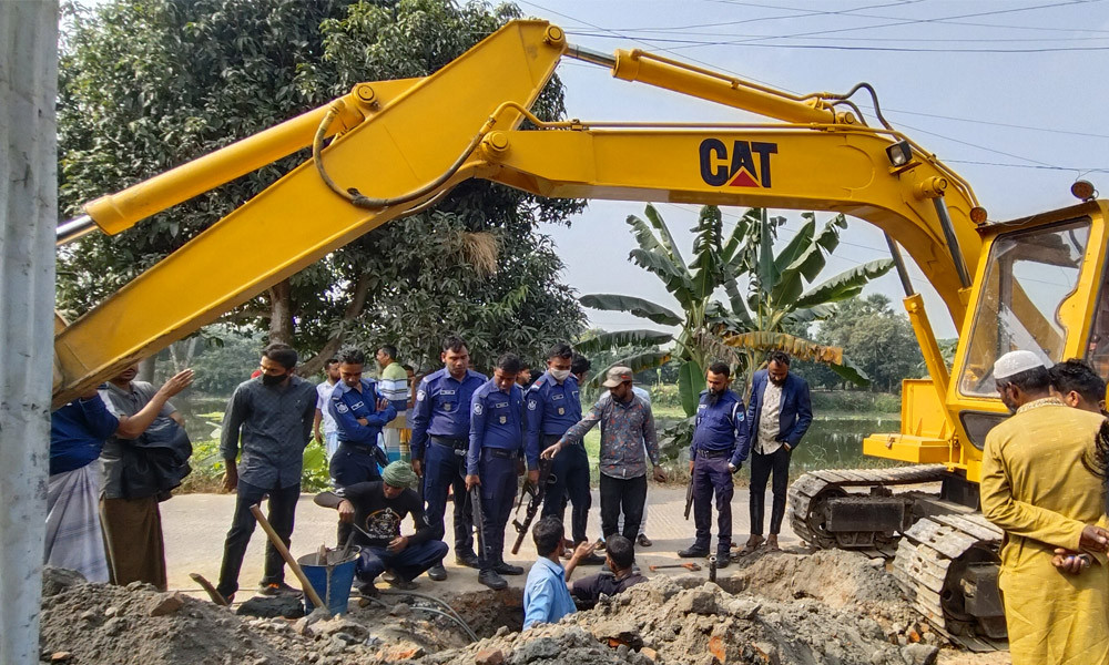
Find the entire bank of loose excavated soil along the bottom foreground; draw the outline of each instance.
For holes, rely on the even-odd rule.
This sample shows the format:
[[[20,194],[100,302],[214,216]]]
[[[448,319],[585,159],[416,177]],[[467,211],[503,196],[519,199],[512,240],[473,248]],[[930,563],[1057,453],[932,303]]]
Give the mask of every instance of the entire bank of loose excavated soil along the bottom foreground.
[[[43,658],[170,665],[1003,665],[1008,654],[947,645],[901,597],[884,562],[849,552],[743,557],[701,575],[659,575],[594,610],[518,632],[518,590],[444,596],[387,593],[316,621],[255,618],[149,585],[87,584],[48,570]]]

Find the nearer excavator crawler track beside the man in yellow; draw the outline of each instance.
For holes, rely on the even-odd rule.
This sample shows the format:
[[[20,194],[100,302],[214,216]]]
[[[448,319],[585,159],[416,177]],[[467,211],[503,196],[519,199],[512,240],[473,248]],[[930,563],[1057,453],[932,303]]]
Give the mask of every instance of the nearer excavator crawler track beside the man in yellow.
[[[981,514],[922,518],[902,538],[893,574],[916,610],[952,642],[975,652],[1008,648],[1000,636],[1004,615],[988,620],[993,631],[983,628],[967,600],[968,567],[996,564],[1000,544],[1001,530]],[[996,602],[999,605],[999,597]]]

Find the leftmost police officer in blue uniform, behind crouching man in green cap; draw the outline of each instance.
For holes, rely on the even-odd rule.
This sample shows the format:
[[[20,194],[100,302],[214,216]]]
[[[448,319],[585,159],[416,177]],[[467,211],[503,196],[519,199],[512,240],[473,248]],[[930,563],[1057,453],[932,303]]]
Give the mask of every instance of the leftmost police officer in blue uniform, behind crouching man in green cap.
[[[363,378],[365,364],[366,355],[358,349],[339,354],[339,381],[327,407],[338,430],[339,444],[329,464],[336,488],[381,480],[381,467],[388,463],[377,438],[397,410],[377,393],[376,381]]]

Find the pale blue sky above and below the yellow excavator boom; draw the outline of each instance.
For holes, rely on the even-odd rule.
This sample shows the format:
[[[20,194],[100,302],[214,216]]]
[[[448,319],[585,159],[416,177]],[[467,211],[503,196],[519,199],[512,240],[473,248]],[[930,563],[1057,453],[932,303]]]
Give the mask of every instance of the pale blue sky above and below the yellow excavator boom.
[[[1109,2],[1105,0],[517,0],[576,44],[640,48],[792,92],[846,91],[859,81],[883,112],[966,177],[1005,221],[1070,205],[1079,176],[1109,194]],[[563,60],[568,113],[582,120],[744,121],[751,116]],[[864,112],[866,109],[864,109]],[[619,293],[672,303],[661,283],[627,260],[624,224],[643,205],[591,202],[570,228],[548,227],[579,294]],[[696,206],[660,204],[689,247]],[[725,224],[742,209],[725,208]],[[772,213],[779,214],[779,213]],[[782,212],[797,227],[796,213]],[[822,215],[820,218],[824,218]],[[827,274],[888,256],[881,232],[852,221]],[[939,337],[956,334],[938,297],[910,266]],[[868,291],[898,309],[893,274]],[[652,327],[619,313],[587,310],[610,330]]]

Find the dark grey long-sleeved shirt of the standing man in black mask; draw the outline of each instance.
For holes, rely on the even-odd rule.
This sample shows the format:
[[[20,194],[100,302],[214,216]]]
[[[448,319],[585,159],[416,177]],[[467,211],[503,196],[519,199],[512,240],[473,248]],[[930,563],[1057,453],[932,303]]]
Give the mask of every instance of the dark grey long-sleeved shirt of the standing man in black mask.
[[[242,431],[240,480],[266,490],[301,482],[316,397],[316,387],[296,376],[285,387],[266,386],[258,377],[235,388],[223,417],[220,454],[225,460],[238,456]]]

